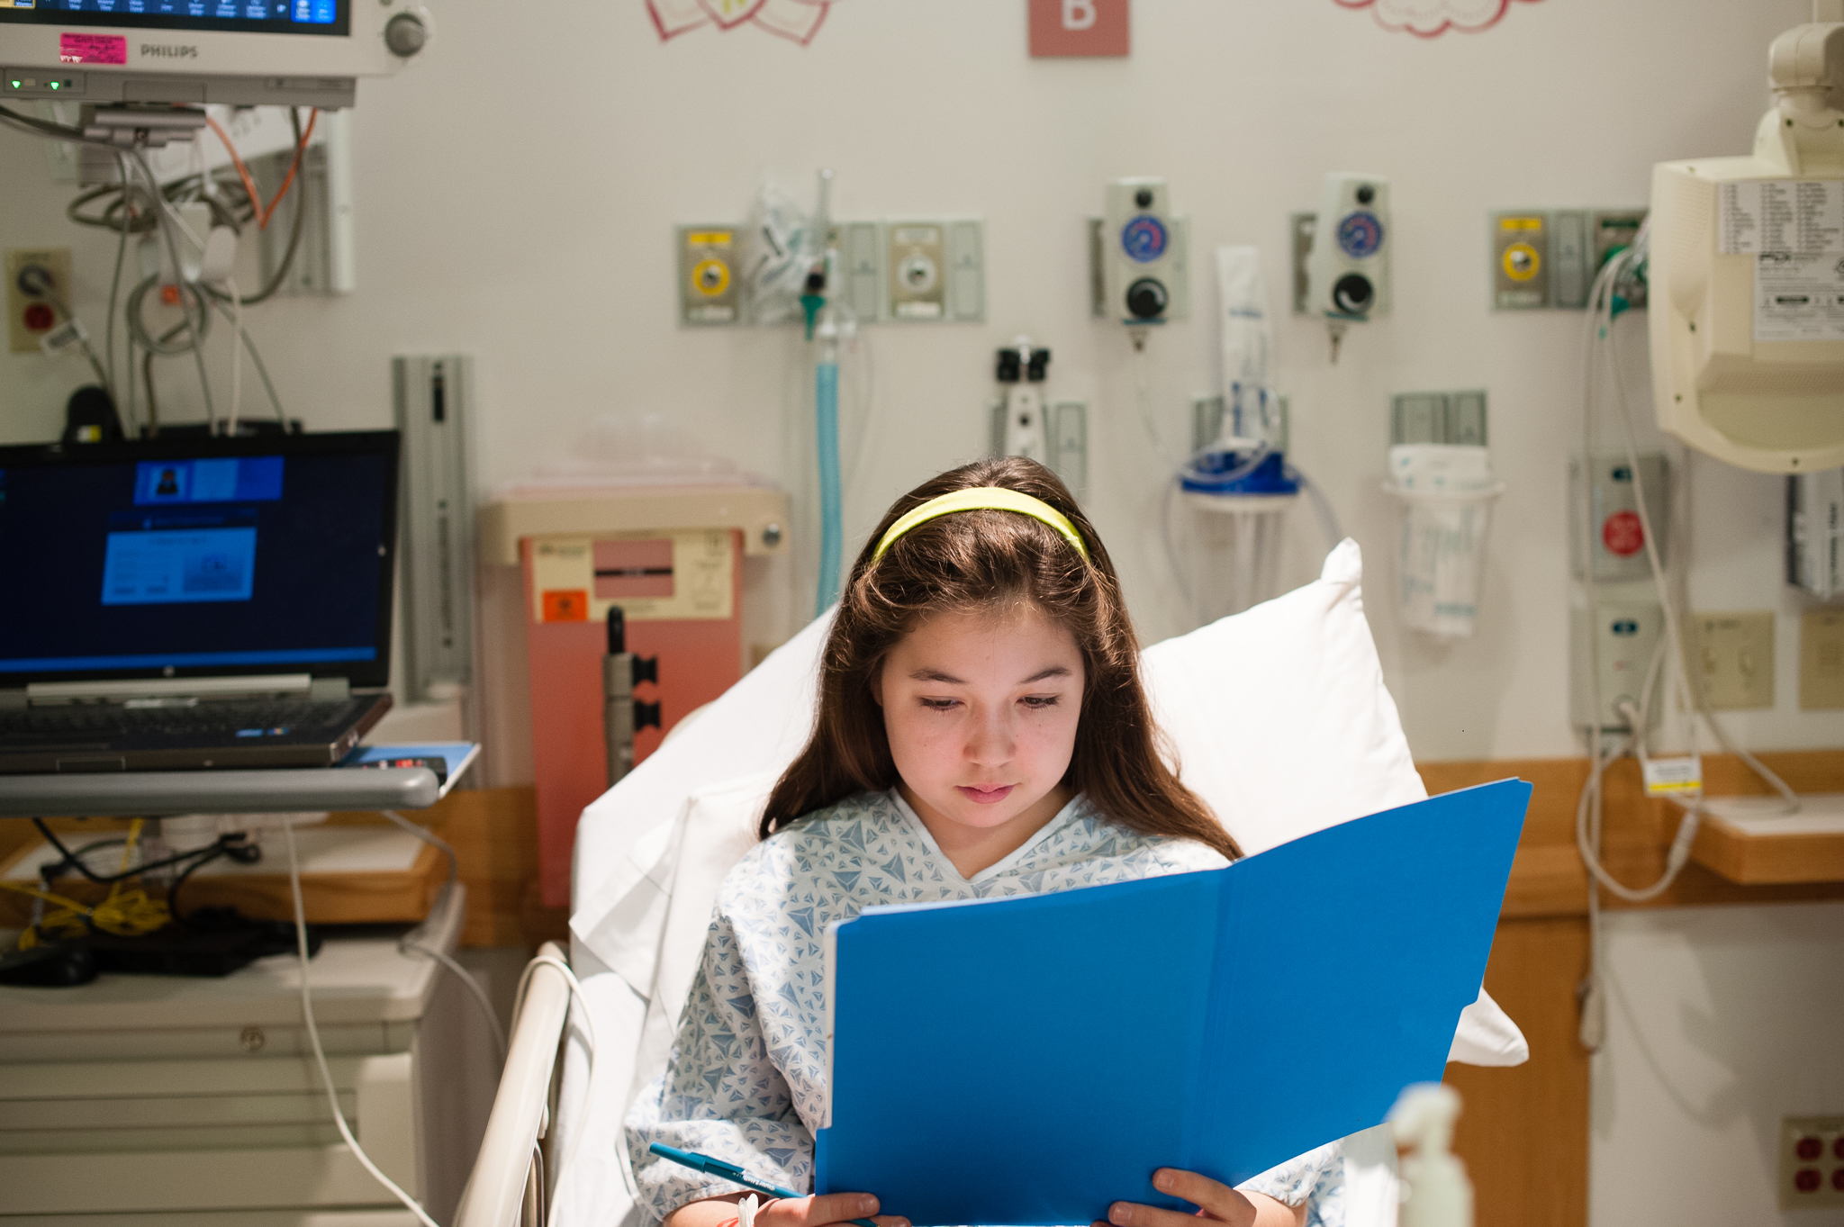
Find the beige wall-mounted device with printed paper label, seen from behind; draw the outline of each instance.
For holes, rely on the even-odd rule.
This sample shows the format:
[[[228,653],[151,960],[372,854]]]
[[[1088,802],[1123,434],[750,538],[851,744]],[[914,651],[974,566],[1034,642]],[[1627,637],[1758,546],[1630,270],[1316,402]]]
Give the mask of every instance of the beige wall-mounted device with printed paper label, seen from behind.
[[[1844,464],[1844,24],[1768,53],[1750,157],[1652,169],[1660,427],[1761,473]]]

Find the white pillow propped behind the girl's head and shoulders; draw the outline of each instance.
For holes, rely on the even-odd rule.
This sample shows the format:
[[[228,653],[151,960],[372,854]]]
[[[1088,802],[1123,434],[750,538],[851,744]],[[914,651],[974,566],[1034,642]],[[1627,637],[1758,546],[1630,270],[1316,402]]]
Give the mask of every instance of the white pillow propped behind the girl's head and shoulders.
[[[1154,713],[1182,779],[1217,812],[1245,853],[1427,796],[1396,704],[1383,685],[1363,615],[1363,558],[1342,542],[1320,578],[1235,617],[1147,649]],[[651,754],[577,824],[570,929],[581,949],[651,995],[677,976],[660,967],[664,917],[710,916],[715,884],[739,855],[728,838],[686,842],[715,860],[695,871],[703,899],[675,897],[692,871],[660,827],[706,790],[703,824],[752,824],[773,777],[813,724],[821,617],[717,698],[695,726]],[[741,776],[754,787],[712,789]],[[743,814],[745,807],[752,807]],[[717,820],[710,811],[730,811]],[[647,833],[651,840],[642,842]],[[747,846],[747,844],[745,844]],[[714,870],[714,871],[712,871]],[[693,952],[695,958],[695,952]],[[677,1004],[666,1002],[669,1017]],[[1518,1065],[1529,1046],[1481,989],[1460,1015],[1453,1061]]]

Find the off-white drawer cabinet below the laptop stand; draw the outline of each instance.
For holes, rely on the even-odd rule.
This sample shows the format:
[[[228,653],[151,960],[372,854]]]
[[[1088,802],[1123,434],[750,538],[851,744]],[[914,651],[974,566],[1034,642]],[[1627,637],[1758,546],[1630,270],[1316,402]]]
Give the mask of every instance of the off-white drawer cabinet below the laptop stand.
[[[463,899],[424,940],[454,952]],[[448,1221],[498,1063],[467,989],[396,932],[328,936],[310,986],[339,1107]],[[225,978],[0,987],[0,1227],[415,1227],[339,1139],[295,956]],[[53,1218],[55,1216],[55,1218]]]

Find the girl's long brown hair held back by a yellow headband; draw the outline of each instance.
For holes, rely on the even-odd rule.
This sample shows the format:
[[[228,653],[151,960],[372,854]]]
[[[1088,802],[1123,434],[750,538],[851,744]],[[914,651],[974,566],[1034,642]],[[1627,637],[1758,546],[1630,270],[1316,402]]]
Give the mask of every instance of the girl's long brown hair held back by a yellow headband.
[[[1088,560],[1031,516],[970,510],[916,525],[872,566],[876,543],[902,514],[974,486],[1005,486],[1049,503],[1081,532]],[[1062,785],[1123,827],[1241,857],[1210,807],[1160,757],[1169,748],[1140,685],[1140,641],[1108,551],[1068,486],[1022,457],[963,464],[924,481],[883,514],[852,566],[826,637],[813,735],[769,794],[762,838],[815,809],[896,783],[872,682],[904,636],[935,614],[1022,604],[1058,623],[1082,652],[1082,713]]]

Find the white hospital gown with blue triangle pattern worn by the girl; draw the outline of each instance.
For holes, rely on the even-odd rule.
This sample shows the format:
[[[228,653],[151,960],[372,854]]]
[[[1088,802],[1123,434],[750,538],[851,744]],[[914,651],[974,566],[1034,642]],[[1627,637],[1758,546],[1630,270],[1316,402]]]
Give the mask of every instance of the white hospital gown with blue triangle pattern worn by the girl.
[[[1224,864],[1202,844],[1116,825],[1082,798],[972,879],[894,789],[846,798],[763,840],[723,879],[671,1059],[627,1116],[640,1205],[666,1218],[688,1201],[741,1192],[656,1159],[653,1142],[743,1164],[786,1188],[813,1186],[813,1126],[826,1104],[826,925],[880,903],[1049,894]],[[1341,1227],[1342,1183],[1333,1142],[1241,1188],[1287,1205],[1311,1196],[1309,1223]]]

